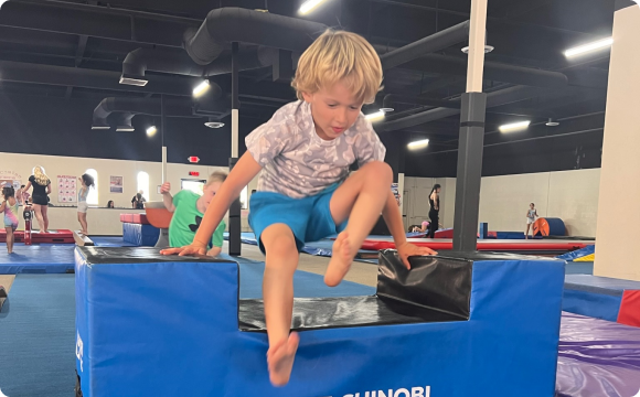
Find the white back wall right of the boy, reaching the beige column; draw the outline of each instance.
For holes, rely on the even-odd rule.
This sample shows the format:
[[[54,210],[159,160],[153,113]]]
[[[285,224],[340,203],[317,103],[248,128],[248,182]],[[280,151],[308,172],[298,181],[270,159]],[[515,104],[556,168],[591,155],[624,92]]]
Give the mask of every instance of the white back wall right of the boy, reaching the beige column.
[[[405,190],[413,201],[407,219],[428,216],[428,193],[434,183],[440,192],[440,223],[454,226],[456,179],[406,178]],[[569,236],[596,236],[600,170],[574,170],[520,175],[482,178],[480,222],[490,230],[524,232],[529,203],[535,203],[540,216],[559,217]],[[425,193],[425,187],[429,191]],[[412,190],[413,189],[413,190]],[[419,223],[419,222],[412,222]]]

